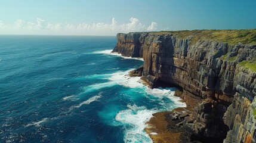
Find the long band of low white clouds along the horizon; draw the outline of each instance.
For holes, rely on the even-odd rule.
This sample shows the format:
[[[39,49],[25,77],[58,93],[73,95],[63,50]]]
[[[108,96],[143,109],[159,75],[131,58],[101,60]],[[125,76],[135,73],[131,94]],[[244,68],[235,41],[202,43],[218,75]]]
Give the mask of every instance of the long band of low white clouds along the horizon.
[[[59,31],[61,32],[68,32],[70,33],[80,33],[83,32],[98,32],[98,33],[116,33],[116,32],[137,32],[137,31],[153,31],[157,29],[158,24],[152,22],[149,26],[141,23],[140,20],[137,18],[131,17],[129,18],[128,23],[119,24],[115,18],[112,18],[111,23],[79,23],[79,24],[72,24],[72,23],[47,23],[42,18],[36,18],[36,21],[24,21],[24,20],[17,20],[13,25],[5,24],[3,21],[0,21],[0,28],[1,29],[19,29],[19,30],[30,30],[30,31],[48,31],[51,34],[51,31]]]

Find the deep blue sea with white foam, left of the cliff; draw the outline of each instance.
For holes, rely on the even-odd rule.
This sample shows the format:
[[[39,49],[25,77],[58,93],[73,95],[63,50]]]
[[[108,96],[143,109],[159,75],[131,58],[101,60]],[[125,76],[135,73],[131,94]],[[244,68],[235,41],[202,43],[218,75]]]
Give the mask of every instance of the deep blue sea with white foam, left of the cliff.
[[[152,142],[152,113],[184,106],[175,88],[127,76],[115,36],[0,36],[0,142]]]

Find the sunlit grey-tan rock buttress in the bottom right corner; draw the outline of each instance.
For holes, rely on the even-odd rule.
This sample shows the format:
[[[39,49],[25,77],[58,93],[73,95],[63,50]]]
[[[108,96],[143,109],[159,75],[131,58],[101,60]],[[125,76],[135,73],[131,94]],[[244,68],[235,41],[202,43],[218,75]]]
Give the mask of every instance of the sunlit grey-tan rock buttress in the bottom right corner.
[[[224,114],[224,122],[229,126],[225,143],[256,142],[256,97],[251,102],[236,93],[232,104]]]

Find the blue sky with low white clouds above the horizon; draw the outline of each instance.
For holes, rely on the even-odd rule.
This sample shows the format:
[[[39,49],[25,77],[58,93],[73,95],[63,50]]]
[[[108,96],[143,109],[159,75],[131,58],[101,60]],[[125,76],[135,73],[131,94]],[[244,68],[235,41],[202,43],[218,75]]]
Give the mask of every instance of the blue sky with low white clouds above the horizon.
[[[255,29],[256,0],[1,0],[0,35]]]

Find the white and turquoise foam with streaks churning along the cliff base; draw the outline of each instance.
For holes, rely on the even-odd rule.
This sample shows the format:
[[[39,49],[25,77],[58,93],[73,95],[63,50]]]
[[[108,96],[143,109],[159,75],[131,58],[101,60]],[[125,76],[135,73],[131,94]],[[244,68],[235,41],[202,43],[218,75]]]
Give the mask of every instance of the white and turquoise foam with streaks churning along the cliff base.
[[[104,51],[106,52],[106,51]],[[109,52],[109,51],[107,51]],[[186,107],[186,104],[180,102],[180,98],[174,96],[175,88],[155,88],[150,89],[138,82],[140,77],[130,77],[129,71],[116,71],[112,74],[94,74],[87,76],[87,79],[108,79],[109,81],[103,83],[95,83],[94,85],[85,86],[82,94],[88,94],[89,92],[100,91],[103,88],[110,88],[115,85],[125,86],[132,88],[137,92],[144,93],[144,96],[149,97],[150,101],[158,102],[158,108],[147,108],[146,106],[137,106],[135,104],[127,105],[127,109],[117,111],[103,110],[100,112],[101,118],[104,122],[112,126],[124,126],[124,142],[152,142],[149,135],[144,131],[146,128],[146,122],[150,120],[153,113],[159,111],[172,110],[175,107]],[[143,94],[140,94],[143,96]],[[82,102],[75,107],[81,107],[84,104],[90,104],[91,101],[95,101],[101,97],[92,97],[87,101]],[[113,120],[114,116],[114,120]]]

